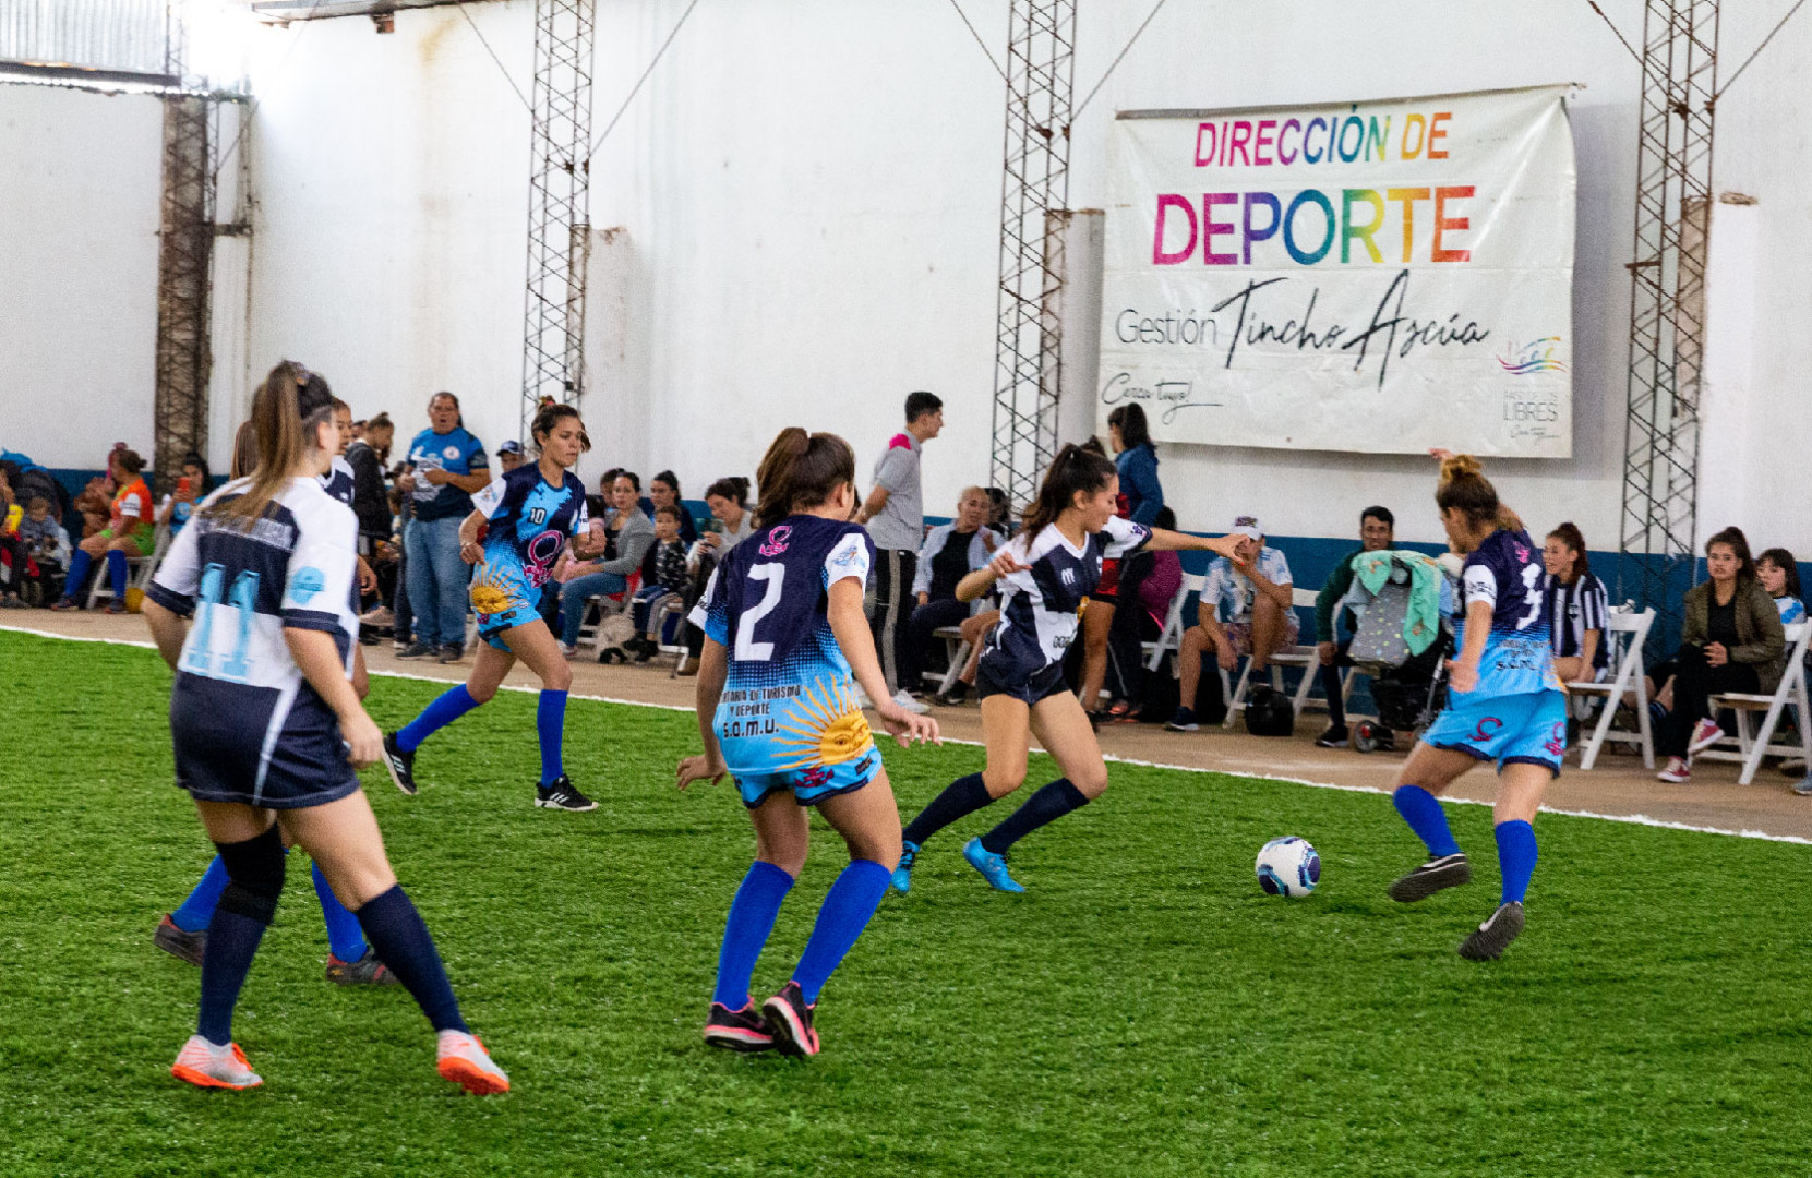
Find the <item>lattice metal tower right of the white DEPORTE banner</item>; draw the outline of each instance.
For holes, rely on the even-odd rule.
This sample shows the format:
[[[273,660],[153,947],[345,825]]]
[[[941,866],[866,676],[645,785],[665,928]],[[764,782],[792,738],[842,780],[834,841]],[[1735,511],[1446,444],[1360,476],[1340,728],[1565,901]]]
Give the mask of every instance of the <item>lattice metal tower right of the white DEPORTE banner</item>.
[[[1647,0],[1636,138],[1636,246],[1629,306],[1629,419],[1618,596],[1654,605],[1678,634],[1696,576],[1705,245],[1720,0]]]

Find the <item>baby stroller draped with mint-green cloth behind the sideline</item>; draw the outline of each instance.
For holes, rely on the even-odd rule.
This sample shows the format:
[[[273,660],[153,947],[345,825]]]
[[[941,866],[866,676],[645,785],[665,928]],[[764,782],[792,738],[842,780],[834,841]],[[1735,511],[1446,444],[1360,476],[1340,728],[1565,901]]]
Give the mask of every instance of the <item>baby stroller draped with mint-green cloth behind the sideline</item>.
[[[1364,571],[1361,569],[1364,565]],[[1446,658],[1453,651],[1453,578],[1422,553],[1390,549],[1354,556],[1354,587],[1341,605],[1359,620],[1348,658],[1372,676],[1377,719],[1354,727],[1354,748],[1395,748],[1395,732],[1422,730],[1446,707]],[[1375,589],[1368,589],[1372,584]],[[1430,596],[1437,614],[1428,618]],[[1412,611],[1419,616],[1412,618]],[[1415,651],[1412,636],[1431,631]]]

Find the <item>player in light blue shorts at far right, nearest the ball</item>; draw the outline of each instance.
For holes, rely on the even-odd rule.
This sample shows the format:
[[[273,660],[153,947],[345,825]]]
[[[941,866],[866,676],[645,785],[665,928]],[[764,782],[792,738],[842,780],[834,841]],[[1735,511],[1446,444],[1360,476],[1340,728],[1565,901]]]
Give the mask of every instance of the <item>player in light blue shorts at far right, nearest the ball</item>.
[[[1460,957],[1491,961],[1522,932],[1522,897],[1535,874],[1535,828],[1547,783],[1567,750],[1567,698],[1555,676],[1542,549],[1497,498],[1471,455],[1435,451],[1441,486],[1435,506],[1448,544],[1466,556],[1460,571],[1464,636],[1448,663],[1448,707],[1422,734],[1397,776],[1393,801],[1410,830],[1428,845],[1428,863],[1390,884],[1390,899],[1413,903],[1471,883],[1471,864],[1435,801],[1479,761],[1497,761],[1497,861],[1504,892]]]

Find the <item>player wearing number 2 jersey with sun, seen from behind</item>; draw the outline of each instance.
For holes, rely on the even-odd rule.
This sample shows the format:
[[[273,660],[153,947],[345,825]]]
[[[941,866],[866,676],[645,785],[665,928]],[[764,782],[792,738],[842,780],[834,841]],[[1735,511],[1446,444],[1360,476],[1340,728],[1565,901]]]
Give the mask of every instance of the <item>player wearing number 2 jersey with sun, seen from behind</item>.
[[[783,430],[757,471],[756,535],[725,555],[692,620],[705,631],[698,727],[705,752],[680,761],[680,788],[736,777],[756,825],[756,863],[736,890],[718,955],[705,1042],[730,1051],[817,1055],[817,995],[888,890],[901,819],[888,770],[855,700],[861,683],[888,732],[937,741],[937,721],[888,696],[863,589],[875,544],[855,509],[855,451],[832,433]],[[799,966],[756,1009],[748,982],[781,901],[806,859],[805,806],[850,848]]]

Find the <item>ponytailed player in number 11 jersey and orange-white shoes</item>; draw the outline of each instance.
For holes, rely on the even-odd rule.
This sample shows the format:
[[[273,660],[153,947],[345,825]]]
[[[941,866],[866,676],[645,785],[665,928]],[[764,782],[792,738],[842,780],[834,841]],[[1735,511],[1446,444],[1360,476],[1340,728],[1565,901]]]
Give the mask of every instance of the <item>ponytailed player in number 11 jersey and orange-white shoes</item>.
[[[232,1042],[232,1011],[283,893],[281,826],[415,995],[437,1031],[440,1075],[473,1093],[509,1091],[460,1019],[359,788],[357,767],[382,756],[384,738],[352,685],[357,522],[317,482],[339,437],[330,397],[297,390],[299,375],[283,362],[259,386],[257,469],[196,509],[145,600],[158,652],[176,671],[176,783],[230,877],[208,924],[196,1035],[170,1075],[201,1087],[263,1084]]]

